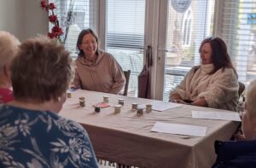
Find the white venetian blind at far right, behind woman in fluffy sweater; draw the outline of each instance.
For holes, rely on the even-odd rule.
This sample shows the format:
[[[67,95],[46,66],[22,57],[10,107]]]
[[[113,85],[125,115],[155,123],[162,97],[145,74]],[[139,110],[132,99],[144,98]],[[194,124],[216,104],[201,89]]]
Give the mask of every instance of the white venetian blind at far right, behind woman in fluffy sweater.
[[[256,78],[256,0],[225,0],[221,36],[244,84]]]

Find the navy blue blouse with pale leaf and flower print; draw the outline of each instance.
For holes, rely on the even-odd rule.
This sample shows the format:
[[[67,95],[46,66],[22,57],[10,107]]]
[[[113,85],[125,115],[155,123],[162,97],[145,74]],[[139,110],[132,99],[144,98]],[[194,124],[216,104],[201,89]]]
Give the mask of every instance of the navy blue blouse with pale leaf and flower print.
[[[78,123],[48,111],[0,105],[0,167],[98,167]]]

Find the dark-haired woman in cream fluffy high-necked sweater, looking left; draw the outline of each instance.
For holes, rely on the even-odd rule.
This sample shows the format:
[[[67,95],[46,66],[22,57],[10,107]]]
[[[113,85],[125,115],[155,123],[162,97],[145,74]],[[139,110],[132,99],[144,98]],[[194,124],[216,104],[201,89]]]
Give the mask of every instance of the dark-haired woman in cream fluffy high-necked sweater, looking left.
[[[206,38],[199,52],[201,65],[192,67],[171,91],[170,101],[237,111],[239,84],[226,44],[218,37]]]

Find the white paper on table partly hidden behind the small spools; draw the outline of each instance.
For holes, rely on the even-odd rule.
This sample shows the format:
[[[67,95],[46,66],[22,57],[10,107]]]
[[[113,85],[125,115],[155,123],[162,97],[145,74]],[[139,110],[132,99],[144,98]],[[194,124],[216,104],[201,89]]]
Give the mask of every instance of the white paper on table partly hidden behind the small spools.
[[[153,101],[152,103],[152,109],[155,111],[164,111],[170,108],[180,107],[181,104],[173,103],[173,102],[164,102],[164,101]],[[146,104],[139,105],[139,107],[146,107]]]

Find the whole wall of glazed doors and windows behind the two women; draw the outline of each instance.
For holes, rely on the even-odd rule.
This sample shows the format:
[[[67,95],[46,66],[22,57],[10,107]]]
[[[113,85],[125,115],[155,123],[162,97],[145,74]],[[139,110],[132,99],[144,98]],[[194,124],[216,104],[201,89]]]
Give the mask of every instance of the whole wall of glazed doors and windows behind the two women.
[[[137,96],[137,76],[148,44],[153,48],[152,71],[157,78],[151,86],[160,92],[153,98],[168,100],[170,90],[200,64],[201,41],[212,35],[224,38],[241,82],[249,84],[256,78],[256,0],[50,1],[60,7],[62,27],[74,2],[66,46],[74,58],[79,31],[90,27],[98,33],[102,49],[124,70],[131,70],[129,96]]]

